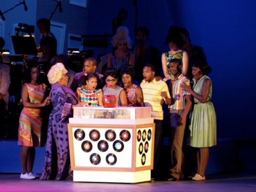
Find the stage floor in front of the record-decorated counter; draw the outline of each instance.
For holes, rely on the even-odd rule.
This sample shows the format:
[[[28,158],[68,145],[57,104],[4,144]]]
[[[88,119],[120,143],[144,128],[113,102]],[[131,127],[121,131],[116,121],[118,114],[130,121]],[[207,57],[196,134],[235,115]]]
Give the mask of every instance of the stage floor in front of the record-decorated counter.
[[[20,174],[0,174],[1,192],[219,192],[256,191],[256,172],[207,175],[205,181],[153,181],[136,184],[24,180]]]

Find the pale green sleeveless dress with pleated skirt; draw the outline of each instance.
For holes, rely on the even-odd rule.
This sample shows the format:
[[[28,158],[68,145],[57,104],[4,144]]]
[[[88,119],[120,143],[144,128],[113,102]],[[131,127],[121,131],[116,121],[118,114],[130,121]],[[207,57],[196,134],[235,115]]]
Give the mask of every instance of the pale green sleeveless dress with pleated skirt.
[[[195,93],[202,95],[202,86],[204,79],[209,79],[208,76],[203,76],[196,83],[195,79],[193,90]],[[188,135],[188,145],[192,147],[211,147],[217,144],[217,123],[216,113],[211,102],[212,86],[210,87],[207,102],[201,103],[194,98],[195,105],[192,112],[191,124],[189,125],[190,135]]]

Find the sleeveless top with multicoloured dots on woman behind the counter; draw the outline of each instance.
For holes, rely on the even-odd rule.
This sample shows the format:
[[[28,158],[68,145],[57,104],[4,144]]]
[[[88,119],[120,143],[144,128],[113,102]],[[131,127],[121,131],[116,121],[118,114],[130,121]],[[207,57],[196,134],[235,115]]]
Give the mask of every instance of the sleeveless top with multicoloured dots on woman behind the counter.
[[[99,94],[102,92],[101,89],[96,90],[85,90],[81,87],[78,87],[79,90],[79,101],[84,103],[91,103],[91,106],[99,105]]]

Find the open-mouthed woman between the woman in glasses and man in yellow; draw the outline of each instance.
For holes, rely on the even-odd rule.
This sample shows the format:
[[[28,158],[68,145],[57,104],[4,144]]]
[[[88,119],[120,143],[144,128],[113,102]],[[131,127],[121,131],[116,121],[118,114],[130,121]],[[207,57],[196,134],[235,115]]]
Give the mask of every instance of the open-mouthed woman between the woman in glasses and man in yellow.
[[[128,107],[144,107],[143,93],[139,86],[132,83],[134,79],[134,67],[123,65],[119,69],[119,76],[122,79],[122,85],[126,92]]]

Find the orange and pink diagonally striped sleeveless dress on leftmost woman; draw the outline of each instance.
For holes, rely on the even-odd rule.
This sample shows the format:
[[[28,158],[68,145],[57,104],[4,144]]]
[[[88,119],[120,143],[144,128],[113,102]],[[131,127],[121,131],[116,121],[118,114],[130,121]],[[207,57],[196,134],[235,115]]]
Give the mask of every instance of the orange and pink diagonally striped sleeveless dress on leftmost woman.
[[[27,87],[29,101],[32,103],[42,103],[46,93],[46,85],[33,85],[25,83]],[[18,145],[29,147],[42,147],[45,145],[45,140],[42,138],[42,122],[40,108],[24,107],[20,113]]]

